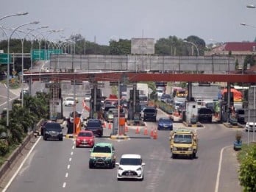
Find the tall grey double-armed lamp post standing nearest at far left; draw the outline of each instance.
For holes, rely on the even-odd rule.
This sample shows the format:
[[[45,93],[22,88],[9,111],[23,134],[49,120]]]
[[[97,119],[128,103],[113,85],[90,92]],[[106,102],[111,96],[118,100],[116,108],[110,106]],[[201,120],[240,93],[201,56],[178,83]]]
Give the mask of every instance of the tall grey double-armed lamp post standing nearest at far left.
[[[10,85],[9,85],[9,80],[10,80],[10,39],[13,36],[13,33],[21,28],[21,26],[26,26],[26,25],[31,25],[31,24],[38,24],[39,21],[34,21],[26,24],[21,24],[20,26],[17,26],[15,29],[13,29],[13,32],[11,32],[10,36],[8,37],[7,32],[3,29],[1,26],[1,29],[4,31],[4,34],[7,36],[7,127],[9,127],[9,110],[10,110]]]

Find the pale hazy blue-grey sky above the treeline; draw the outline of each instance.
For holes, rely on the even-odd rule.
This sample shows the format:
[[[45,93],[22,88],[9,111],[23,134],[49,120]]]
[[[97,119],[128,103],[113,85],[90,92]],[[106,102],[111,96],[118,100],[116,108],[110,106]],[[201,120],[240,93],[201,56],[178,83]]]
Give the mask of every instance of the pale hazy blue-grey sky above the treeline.
[[[247,8],[248,4],[256,6],[256,0],[1,0],[0,18],[17,12],[29,14],[4,18],[0,26],[14,29],[40,21],[19,29],[28,32],[27,28],[49,26],[33,34],[53,41],[80,34],[100,45],[119,38],[185,39],[190,35],[207,44],[252,42],[256,9]],[[53,29],[63,31],[47,32]],[[0,40],[4,38],[0,30]]]

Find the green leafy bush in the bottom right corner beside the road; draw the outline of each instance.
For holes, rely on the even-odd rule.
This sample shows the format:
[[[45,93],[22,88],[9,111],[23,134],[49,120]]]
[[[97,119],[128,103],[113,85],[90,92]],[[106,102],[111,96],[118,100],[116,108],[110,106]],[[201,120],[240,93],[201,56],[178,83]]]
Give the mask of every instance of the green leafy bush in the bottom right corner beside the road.
[[[242,149],[243,150],[243,149]],[[254,144],[241,161],[239,179],[243,191],[256,191],[256,145]]]

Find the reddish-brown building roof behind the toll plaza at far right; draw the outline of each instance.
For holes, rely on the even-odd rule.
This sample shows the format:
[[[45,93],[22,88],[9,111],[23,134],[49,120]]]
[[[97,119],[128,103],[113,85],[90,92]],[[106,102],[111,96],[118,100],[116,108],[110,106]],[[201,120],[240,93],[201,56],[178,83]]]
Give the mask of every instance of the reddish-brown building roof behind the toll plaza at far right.
[[[213,48],[213,51],[255,51],[256,42],[227,42]]]

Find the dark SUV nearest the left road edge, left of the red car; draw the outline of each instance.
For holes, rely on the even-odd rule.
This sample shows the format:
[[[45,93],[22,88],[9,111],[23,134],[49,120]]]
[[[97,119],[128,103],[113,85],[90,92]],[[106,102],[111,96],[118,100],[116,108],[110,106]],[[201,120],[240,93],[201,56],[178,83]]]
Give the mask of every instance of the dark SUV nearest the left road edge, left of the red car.
[[[63,141],[63,128],[56,122],[48,122],[43,126],[43,140],[58,139]]]

